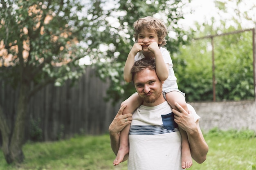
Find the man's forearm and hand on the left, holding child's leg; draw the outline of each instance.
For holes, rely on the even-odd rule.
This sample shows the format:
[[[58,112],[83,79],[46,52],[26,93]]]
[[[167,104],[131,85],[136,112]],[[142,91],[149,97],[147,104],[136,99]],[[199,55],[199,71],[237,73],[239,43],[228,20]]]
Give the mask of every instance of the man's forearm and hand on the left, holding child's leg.
[[[117,155],[117,152],[119,150],[119,132],[132,122],[131,113],[122,115],[124,108],[126,108],[126,106],[127,104],[124,104],[124,106],[122,106],[118,110],[117,115],[115,116],[114,120],[108,128],[110,135],[110,145],[115,155]],[[127,119],[127,121],[125,119]]]

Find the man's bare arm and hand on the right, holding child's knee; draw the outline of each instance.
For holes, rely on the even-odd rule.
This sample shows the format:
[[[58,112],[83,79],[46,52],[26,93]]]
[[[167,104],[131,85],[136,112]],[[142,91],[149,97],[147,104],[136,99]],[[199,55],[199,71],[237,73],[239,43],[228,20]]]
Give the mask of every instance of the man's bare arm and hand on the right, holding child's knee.
[[[173,109],[173,113],[175,114],[174,121],[185,130],[188,135],[191,156],[196,162],[203,163],[206,160],[209,147],[202,135],[199,120],[194,121],[193,114],[187,113],[179,104],[175,103],[175,106],[180,111]]]

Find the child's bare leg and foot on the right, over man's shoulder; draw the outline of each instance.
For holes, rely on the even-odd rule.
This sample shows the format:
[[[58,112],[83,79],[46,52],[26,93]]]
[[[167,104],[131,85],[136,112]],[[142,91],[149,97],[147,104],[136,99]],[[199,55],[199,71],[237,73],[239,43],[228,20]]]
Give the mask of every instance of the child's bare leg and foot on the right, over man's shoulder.
[[[166,100],[167,102],[172,106],[172,108],[178,110],[178,108],[175,107],[174,103],[177,102],[186,110],[189,112],[188,107],[186,105],[185,97],[178,91],[171,91],[169,93],[166,93]],[[188,136],[186,134],[186,131],[184,131],[182,128],[180,128],[180,135],[182,137],[182,168],[190,168],[192,166],[192,157],[189,147],[189,141]]]

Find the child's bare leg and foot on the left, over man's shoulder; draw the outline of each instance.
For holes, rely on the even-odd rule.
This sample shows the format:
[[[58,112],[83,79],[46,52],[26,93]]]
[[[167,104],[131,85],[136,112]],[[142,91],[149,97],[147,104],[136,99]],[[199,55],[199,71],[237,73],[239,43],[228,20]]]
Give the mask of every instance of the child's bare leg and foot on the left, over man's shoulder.
[[[127,113],[133,113],[134,110],[141,105],[141,103],[142,103],[142,99],[141,97],[139,97],[137,93],[131,95],[128,99],[126,99],[121,104],[121,106],[123,106],[124,104],[127,104],[126,108],[123,111],[123,115]],[[124,159],[124,156],[129,152],[129,144],[128,144],[129,130],[130,130],[130,124],[120,132],[119,150],[117,152],[117,157],[114,160],[113,165],[118,165],[119,163],[121,163]]]

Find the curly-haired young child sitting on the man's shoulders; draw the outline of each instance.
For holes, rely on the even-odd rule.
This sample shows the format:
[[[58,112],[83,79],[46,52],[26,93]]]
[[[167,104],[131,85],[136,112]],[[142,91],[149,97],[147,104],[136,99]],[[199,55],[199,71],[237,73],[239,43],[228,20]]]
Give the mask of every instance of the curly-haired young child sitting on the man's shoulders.
[[[134,38],[136,43],[133,45],[128,54],[126,64],[124,66],[124,80],[126,82],[132,81],[130,69],[135,61],[144,57],[155,59],[157,76],[163,84],[163,94],[167,102],[178,110],[174,103],[179,103],[187,112],[184,93],[178,90],[176,77],[173,71],[173,63],[168,51],[162,46],[166,44],[165,37],[167,35],[167,27],[162,20],[153,18],[151,16],[141,18],[134,23]],[[136,108],[142,104],[142,99],[137,93],[131,95],[128,99],[122,102],[121,106],[127,104],[123,114],[133,113]],[[128,133],[130,126],[126,126],[120,132],[120,146],[117,157],[113,164],[118,165],[124,159],[124,156],[129,152]],[[182,168],[190,168],[192,166],[192,158],[189,148],[189,142],[186,132],[180,129],[182,136]]]

